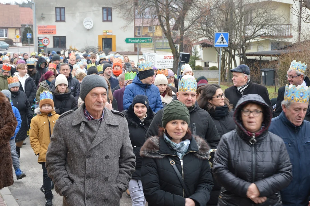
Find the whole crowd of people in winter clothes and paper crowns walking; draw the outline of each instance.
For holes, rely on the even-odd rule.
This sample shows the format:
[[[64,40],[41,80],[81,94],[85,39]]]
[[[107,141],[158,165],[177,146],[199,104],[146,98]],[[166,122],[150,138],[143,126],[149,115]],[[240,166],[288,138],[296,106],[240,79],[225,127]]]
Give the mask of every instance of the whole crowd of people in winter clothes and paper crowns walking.
[[[270,100],[243,64],[223,91],[189,64],[177,77],[126,55],[29,56],[1,58],[0,189],[12,167],[26,178],[29,137],[46,206],[54,187],[68,206],[120,205],[125,191],[134,206],[309,204],[305,63]]]

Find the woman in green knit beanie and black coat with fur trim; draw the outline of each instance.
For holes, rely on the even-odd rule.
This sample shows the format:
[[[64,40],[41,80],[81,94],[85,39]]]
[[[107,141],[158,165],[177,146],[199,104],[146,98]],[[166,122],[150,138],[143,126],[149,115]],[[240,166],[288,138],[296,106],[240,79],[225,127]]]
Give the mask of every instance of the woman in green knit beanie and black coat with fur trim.
[[[210,199],[210,147],[191,134],[189,123],[187,107],[172,101],[164,108],[159,135],[148,138],[140,150],[141,180],[149,206],[202,206]]]

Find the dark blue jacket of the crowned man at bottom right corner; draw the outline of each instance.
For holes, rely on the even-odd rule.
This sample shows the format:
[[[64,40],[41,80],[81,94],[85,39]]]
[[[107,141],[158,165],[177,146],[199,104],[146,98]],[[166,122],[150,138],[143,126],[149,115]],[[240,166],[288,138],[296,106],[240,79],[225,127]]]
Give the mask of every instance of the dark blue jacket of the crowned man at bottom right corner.
[[[310,122],[293,125],[282,111],[271,120],[269,132],[280,136],[286,146],[293,165],[293,180],[281,190],[283,206],[308,206],[310,194]]]

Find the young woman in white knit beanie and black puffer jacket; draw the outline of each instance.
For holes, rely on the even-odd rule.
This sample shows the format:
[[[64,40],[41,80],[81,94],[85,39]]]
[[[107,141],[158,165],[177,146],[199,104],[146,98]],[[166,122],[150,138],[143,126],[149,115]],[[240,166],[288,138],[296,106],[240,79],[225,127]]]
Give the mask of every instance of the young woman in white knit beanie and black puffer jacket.
[[[78,104],[68,88],[68,80],[63,74],[56,77],[53,101],[55,112],[59,115],[78,108]]]

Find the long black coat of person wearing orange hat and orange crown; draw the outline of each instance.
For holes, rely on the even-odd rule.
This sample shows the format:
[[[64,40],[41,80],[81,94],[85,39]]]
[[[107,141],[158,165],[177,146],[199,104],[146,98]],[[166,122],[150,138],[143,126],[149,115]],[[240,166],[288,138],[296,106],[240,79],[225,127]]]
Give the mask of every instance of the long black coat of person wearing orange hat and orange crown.
[[[11,95],[13,106],[16,107],[20,112],[20,130],[15,136],[15,142],[20,142],[27,138],[28,124],[30,124],[33,113],[31,111],[31,105],[27,99],[27,96],[23,91],[11,91]],[[27,121],[29,121],[29,123]]]

